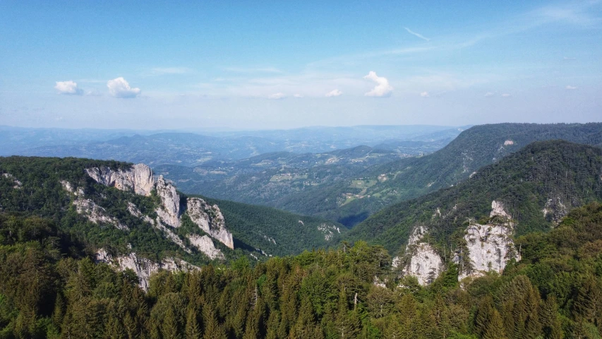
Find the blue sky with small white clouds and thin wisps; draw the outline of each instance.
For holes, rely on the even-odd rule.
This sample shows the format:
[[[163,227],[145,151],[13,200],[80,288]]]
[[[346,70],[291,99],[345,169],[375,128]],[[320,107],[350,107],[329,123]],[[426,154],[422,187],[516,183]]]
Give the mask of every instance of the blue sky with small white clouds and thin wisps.
[[[601,1],[0,1],[0,124],[602,121]]]

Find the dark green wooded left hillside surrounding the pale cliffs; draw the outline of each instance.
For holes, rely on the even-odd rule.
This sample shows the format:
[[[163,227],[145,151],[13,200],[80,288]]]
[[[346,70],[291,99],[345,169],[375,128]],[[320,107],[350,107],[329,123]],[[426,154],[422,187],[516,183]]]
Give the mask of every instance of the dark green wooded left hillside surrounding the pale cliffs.
[[[131,166],[78,158],[0,157],[0,211],[49,218],[61,232],[91,251],[135,251],[153,261],[175,257],[194,264],[209,262],[207,256],[195,250],[197,245],[190,237],[201,237],[205,232],[191,223],[188,215],[180,215],[181,227],[157,226],[161,198],[155,191],[144,196],[105,186],[86,173],[92,167],[117,172]],[[182,213],[187,198],[180,196]],[[221,210],[225,227],[236,243],[231,251],[214,241],[226,258],[251,253],[258,258],[299,254],[303,249],[326,247],[339,240],[341,227],[335,222],[229,201],[211,201],[209,206],[215,203],[217,210],[207,213]]]

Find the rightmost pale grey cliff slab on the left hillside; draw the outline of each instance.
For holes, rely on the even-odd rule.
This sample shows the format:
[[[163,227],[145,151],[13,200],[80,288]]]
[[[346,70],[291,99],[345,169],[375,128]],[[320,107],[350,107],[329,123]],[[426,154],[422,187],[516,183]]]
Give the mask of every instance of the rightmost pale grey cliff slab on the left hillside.
[[[203,232],[234,249],[232,234],[226,229],[224,216],[217,205],[210,206],[201,198],[188,198],[186,213]]]

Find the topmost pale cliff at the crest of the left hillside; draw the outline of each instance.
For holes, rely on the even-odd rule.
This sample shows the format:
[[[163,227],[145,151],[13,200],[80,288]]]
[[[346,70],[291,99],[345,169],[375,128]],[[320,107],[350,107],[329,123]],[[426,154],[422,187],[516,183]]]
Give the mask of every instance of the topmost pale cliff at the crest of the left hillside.
[[[150,191],[155,187],[152,171],[144,164],[133,165],[128,170],[114,171],[109,167],[92,167],[85,171],[99,184],[114,186],[121,191],[133,190],[136,194],[150,196]]]

